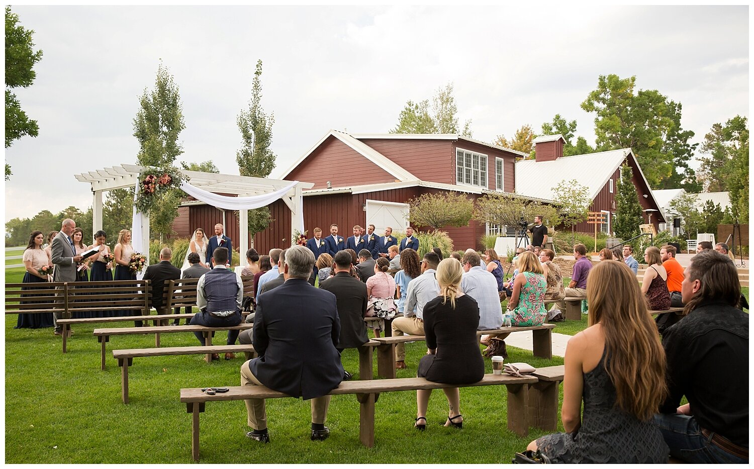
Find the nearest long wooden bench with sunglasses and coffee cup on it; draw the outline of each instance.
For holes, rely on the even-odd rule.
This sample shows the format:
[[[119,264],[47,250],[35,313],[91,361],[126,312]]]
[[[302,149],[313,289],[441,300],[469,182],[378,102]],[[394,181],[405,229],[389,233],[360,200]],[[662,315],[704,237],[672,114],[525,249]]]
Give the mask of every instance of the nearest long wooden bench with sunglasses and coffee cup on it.
[[[482,381],[470,385],[448,385],[427,381],[424,378],[378,379],[373,381],[346,381],[329,392],[329,395],[356,394],[359,401],[359,439],[371,448],[375,443],[375,403],[379,394],[391,391],[415,391],[417,389],[467,388],[471,386],[505,385],[507,387],[507,428],[521,437],[529,434],[529,386],[538,379],[535,376],[518,378],[507,375],[485,375]],[[199,414],[207,402],[219,400],[274,399],[290,397],[265,386],[233,386],[227,393],[204,394],[201,388],[181,389],[180,400],[186,411],[192,414],[192,457],[199,460]],[[497,425],[497,422],[491,422]],[[495,427],[497,428],[497,427]]]

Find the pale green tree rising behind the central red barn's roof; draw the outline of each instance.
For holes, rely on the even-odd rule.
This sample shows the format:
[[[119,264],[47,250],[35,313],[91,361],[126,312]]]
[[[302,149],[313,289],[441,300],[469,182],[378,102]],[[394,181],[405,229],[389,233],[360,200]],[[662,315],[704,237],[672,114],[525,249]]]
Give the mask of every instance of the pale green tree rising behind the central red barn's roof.
[[[398,116],[398,124],[390,133],[460,133],[471,136],[471,120],[464,122],[463,130],[458,129],[458,106],[453,96],[452,82],[438,87],[430,109],[429,100],[414,103],[406,101],[406,106]]]

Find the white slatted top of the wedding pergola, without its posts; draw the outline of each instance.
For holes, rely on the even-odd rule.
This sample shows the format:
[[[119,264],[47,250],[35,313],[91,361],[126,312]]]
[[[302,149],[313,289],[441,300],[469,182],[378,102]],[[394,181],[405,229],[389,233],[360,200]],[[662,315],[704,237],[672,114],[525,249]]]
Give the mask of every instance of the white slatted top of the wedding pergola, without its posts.
[[[102,170],[75,174],[80,182],[89,182],[93,191],[109,191],[124,187],[133,187],[139,181],[139,174],[146,168],[137,164],[121,164]],[[273,192],[290,185],[293,181],[269,179],[262,177],[237,176],[234,174],[204,173],[201,171],[181,170],[189,176],[189,184],[210,192],[236,195],[258,195]],[[299,182],[302,189],[311,189],[311,182]]]

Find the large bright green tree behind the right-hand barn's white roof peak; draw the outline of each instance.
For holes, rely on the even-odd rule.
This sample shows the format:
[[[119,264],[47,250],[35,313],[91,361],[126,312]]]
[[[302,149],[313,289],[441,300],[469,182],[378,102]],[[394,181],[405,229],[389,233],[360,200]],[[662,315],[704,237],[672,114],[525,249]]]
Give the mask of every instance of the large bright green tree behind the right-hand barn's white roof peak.
[[[599,75],[596,90],[581,103],[581,109],[596,114],[597,150],[633,149],[652,189],[693,184],[688,161],[697,144],[688,143],[694,133],[680,126],[681,104],[657,90],[634,93],[635,84],[635,76]]]

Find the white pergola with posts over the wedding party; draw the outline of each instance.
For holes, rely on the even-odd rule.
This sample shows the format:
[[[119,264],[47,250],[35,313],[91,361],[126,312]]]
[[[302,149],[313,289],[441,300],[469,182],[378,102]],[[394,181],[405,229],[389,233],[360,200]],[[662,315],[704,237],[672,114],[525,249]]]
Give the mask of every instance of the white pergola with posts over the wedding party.
[[[92,202],[92,234],[102,229],[102,194],[113,189],[124,189],[127,187],[136,187],[139,182],[139,174],[148,168],[136,164],[121,164],[119,166],[106,167],[101,170],[89,171],[88,173],[75,174],[75,178],[80,182],[88,182],[91,185],[93,194]],[[189,184],[203,189],[208,192],[219,192],[223,194],[235,194],[238,197],[250,197],[253,195],[262,195],[268,192],[274,192],[290,185],[293,181],[284,179],[269,179],[250,176],[235,176],[234,174],[216,174],[204,173],[201,171],[181,170],[181,173],[189,176]],[[311,182],[298,182],[282,198],[291,211],[291,229],[304,231],[302,223],[302,191],[311,189],[314,186]],[[218,209],[222,210],[222,209]],[[223,212],[223,222],[225,222],[225,210]],[[239,231],[241,232],[241,265],[246,265],[245,253],[249,249],[248,242],[248,210],[239,210]],[[224,225],[225,223],[223,223]],[[134,234],[135,235],[135,234]],[[144,217],[142,232],[140,233],[143,246],[149,246],[149,216]],[[291,236],[290,239],[293,239]],[[149,250],[146,250],[149,256]],[[148,258],[149,259],[149,258]]]

